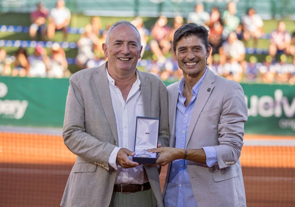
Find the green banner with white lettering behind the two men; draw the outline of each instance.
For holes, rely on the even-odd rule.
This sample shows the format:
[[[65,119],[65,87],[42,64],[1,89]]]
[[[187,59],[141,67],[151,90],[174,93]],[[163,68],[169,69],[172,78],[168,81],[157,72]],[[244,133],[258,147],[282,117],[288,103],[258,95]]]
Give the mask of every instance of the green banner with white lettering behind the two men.
[[[245,133],[295,136],[295,85],[241,85]],[[0,125],[62,127],[68,87],[67,78],[0,77]]]

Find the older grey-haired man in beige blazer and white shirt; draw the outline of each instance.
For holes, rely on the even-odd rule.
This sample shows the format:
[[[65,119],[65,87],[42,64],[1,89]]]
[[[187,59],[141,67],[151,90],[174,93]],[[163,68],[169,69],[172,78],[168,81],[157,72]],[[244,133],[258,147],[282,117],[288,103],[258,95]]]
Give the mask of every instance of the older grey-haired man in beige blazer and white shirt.
[[[102,47],[106,63],[70,78],[63,139],[77,159],[60,205],[163,206],[158,168],[131,156],[136,116],[160,118],[158,143],[168,146],[166,87],[136,69],[142,46],[130,22],[115,23]]]

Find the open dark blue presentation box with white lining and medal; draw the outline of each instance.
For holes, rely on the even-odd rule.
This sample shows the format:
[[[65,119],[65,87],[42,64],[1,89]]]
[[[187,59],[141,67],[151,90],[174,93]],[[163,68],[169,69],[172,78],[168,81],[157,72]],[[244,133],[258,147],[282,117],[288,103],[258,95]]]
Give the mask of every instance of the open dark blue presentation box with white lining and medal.
[[[158,153],[148,152],[157,148],[159,135],[159,118],[136,117],[135,155],[132,161],[140,164],[156,164]]]

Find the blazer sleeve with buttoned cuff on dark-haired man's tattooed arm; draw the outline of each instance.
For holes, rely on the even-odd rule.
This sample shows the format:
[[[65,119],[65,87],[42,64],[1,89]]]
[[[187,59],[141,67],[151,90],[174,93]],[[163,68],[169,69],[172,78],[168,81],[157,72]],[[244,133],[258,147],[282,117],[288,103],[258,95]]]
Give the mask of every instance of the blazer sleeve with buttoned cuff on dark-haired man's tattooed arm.
[[[243,89],[240,84],[231,83],[225,91],[219,117],[219,145],[214,146],[220,169],[228,166],[226,162],[236,163],[239,160],[243,146],[244,122],[248,119]]]

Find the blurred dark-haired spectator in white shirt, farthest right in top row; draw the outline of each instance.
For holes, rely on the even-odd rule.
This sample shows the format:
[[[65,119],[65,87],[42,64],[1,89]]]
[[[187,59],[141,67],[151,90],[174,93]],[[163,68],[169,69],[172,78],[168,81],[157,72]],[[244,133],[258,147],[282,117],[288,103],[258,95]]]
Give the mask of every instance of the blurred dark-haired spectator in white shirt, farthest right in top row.
[[[253,38],[254,47],[257,47],[257,40],[263,35],[263,20],[253,7],[248,9],[247,15],[242,18],[243,25],[243,39],[245,44],[248,43],[250,38]]]

